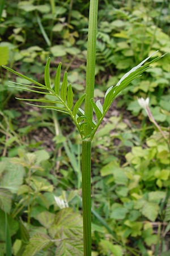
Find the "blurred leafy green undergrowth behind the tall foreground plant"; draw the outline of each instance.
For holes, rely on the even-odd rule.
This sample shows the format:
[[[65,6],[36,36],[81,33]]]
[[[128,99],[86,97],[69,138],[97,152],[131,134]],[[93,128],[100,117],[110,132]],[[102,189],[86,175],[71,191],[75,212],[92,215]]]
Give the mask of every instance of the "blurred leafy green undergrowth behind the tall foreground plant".
[[[1,0],[0,64],[43,84],[50,56],[51,75],[62,61],[81,96],[88,4]],[[169,20],[168,0],[99,2],[96,99],[157,49],[157,56],[170,52]],[[170,253],[169,56],[121,94],[94,139],[93,256]],[[15,100],[34,94],[11,88],[9,81],[26,81],[0,72],[0,255],[10,237],[14,256],[83,255],[79,135],[65,114]],[[138,97],[150,97],[167,139]]]

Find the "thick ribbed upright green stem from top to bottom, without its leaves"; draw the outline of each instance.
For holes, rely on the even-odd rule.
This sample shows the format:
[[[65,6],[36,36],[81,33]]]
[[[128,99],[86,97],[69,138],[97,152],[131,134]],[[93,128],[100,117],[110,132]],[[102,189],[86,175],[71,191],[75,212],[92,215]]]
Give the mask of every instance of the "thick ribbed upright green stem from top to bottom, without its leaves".
[[[92,121],[93,108],[91,98],[94,97],[95,63],[96,63],[96,35],[97,10],[99,0],[90,0],[88,42],[87,42],[87,69],[86,69],[86,98],[84,112],[88,120]],[[82,203],[83,203],[83,240],[84,256],[91,256],[91,141],[92,127],[84,127],[85,139],[82,142]]]

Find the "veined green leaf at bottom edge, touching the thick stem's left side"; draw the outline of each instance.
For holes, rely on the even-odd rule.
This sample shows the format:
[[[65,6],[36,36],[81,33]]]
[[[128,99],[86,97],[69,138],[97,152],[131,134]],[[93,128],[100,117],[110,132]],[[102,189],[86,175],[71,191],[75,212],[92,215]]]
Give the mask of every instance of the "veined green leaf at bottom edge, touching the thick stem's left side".
[[[56,256],[83,256],[83,241],[74,240],[69,238],[68,240],[62,240],[57,246]]]

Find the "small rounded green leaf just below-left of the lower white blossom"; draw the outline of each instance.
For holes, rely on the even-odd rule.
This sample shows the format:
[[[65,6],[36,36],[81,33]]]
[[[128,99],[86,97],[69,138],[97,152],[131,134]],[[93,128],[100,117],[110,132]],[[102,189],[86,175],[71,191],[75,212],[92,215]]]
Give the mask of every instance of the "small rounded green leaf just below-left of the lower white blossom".
[[[54,222],[55,214],[50,212],[41,212],[36,216],[36,220],[38,220],[42,226],[46,229],[50,228]]]

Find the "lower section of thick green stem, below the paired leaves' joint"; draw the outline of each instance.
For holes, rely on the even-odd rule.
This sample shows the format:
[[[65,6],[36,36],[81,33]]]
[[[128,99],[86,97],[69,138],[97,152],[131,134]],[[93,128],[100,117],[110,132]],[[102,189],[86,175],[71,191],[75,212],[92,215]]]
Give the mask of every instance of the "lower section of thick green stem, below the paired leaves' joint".
[[[91,256],[91,141],[82,143],[82,202],[84,256]]]

